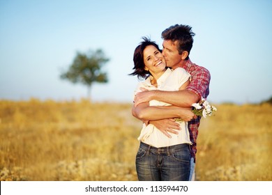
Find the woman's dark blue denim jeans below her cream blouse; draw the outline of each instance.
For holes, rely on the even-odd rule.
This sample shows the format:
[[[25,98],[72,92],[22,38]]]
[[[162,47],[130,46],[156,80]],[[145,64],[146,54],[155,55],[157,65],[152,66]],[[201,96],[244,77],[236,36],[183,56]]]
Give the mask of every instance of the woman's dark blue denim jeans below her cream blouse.
[[[190,146],[187,143],[155,148],[141,142],[136,155],[138,180],[188,181],[190,158]]]

